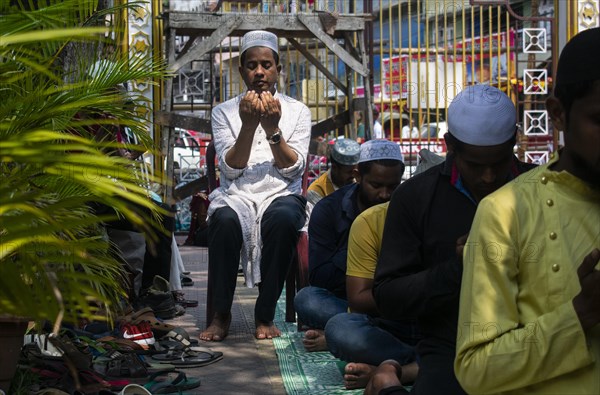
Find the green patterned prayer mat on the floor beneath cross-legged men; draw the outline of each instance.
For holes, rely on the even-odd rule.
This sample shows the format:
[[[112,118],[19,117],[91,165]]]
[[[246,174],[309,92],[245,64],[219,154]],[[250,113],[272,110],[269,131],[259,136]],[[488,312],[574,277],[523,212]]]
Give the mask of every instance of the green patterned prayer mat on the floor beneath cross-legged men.
[[[279,369],[288,395],[362,394],[363,390],[344,388],[346,363],[331,353],[306,352],[302,344],[303,332],[296,323],[285,322],[285,290],[277,303],[275,324],[281,337],[273,339],[279,359]]]

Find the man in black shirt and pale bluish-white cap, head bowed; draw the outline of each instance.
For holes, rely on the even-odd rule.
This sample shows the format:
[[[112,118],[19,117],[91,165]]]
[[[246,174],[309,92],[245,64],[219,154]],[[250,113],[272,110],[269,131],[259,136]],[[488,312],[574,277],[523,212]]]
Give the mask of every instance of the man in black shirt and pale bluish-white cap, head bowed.
[[[382,317],[417,319],[423,338],[416,347],[414,394],[465,393],[454,375],[462,274],[457,246],[464,244],[479,202],[534,167],[513,153],[516,108],[495,87],[461,91],[448,107],[448,127],[446,160],[404,182],[390,200],[373,282]],[[382,369],[397,372],[394,366]],[[373,384],[382,382],[379,373]],[[389,391],[406,393],[401,384],[397,380]]]

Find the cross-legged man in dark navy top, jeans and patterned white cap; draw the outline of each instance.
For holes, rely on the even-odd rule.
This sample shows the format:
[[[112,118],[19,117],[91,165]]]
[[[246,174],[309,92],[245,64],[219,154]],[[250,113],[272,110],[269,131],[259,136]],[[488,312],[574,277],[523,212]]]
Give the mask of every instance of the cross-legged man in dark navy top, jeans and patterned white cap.
[[[346,256],[350,226],[358,214],[387,202],[400,184],[404,163],[398,144],[371,140],[360,147],[356,183],[321,199],[308,225],[309,287],[294,299],[298,318],[311,328],[304,337],[307,351],[327,350],[327,321],[348,310]]]

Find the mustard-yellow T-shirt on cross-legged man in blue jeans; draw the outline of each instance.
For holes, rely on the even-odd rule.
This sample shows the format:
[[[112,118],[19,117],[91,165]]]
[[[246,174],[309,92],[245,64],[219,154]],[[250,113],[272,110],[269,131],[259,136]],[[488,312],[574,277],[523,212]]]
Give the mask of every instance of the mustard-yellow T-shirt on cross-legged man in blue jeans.
[[[363,211],[350,228],[346,275],[372,280],[381,250],[383,225],[389,202]]]

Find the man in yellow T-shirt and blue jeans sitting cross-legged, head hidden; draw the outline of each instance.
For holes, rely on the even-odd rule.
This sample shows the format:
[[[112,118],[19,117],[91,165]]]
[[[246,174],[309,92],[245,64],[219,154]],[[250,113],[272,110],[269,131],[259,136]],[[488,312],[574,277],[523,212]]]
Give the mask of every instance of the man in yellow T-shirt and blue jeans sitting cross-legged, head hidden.
[[[373,206],[354,220],[346,269],[350,312],[335,315],[325,326],[331,353],[350,362],[344,375],[347,389],[365,387],[375,367],[385,360],[404,365],[404,383],[413,382],[418,371],[414,346],[420,336],[416,320],[381,318],[373,299],[373,276],[388,205],[389,202]]]

